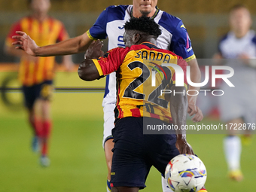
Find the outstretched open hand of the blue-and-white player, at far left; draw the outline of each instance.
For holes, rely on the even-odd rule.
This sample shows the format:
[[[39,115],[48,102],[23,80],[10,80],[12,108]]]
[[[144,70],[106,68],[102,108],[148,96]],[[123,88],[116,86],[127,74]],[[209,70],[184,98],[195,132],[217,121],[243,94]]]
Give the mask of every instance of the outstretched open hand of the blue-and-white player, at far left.
[[[38,45],[35,44],[35,41],[29,35],[26,35],[26,32],[17,31],[16,33],[18,35],[12,37],[17,40],[12,43],[13,45],[18,45],[15,48],[17,50],[24,50],[29,55],[36,56],[35,50],[38,49]]]

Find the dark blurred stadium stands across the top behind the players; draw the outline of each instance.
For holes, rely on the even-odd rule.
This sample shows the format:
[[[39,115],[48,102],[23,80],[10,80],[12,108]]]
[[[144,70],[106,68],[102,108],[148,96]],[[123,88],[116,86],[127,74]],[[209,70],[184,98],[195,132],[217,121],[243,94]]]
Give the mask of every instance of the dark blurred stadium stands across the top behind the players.
[[[130,5],[130,0],[101,1],[93,3],[87,0],[52,0],[50,15],[61,20],[70,37],[81,35],[90,29],[99,14],[109,5]],[[251,14],[256,10],[253,0],[171,0],[158,1],[157,6],[169,14],[180,17],[189,32],[197,58],[212,58],[218,46],[218,40],[228,29],[228,11],[233,5],[248,5]],[[0,0],[0,62],[9,62],[13,58],[3,56],[2,48],[11,24],[28,14],[26,0]],[[253,15],[253,20],[256,16]],[[256,23],[253,24],[253,29]],[[107,47],[107,46],[105,46]],[[79,56],[73,56],[74,62],[80,62]]]

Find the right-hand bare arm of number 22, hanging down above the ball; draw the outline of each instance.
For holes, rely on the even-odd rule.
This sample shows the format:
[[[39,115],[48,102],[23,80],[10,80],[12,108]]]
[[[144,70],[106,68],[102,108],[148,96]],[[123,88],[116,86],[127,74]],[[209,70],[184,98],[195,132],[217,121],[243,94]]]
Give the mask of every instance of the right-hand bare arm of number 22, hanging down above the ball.
[[[186,91],[185,87],[175,87],[175,85],[172,85],[171,90],[172,93],[174,90],[176,93]],[[170,108],[173,124],[177,125],[178,129],[180,129],[176,130],[176,148],[178,148],[180,154],[194,154],[191,146],[187,143],[186,130],[181,130],[181,126],[186,124],[187,119],[187,96],[183,94],[176,94],[175,96],[172,96]]]

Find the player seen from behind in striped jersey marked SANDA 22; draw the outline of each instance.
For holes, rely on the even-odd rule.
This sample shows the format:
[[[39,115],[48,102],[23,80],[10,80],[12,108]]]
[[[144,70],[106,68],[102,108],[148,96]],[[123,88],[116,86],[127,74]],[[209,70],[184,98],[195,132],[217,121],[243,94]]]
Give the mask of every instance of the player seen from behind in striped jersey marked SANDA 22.
[[[117,47],[103,55],[101,41],[94,41],[78,69],[79,77],[85,81],[117,72],[112,192],[139,191],[145,187],[151,166],[163,174],[172,157],[180,153],[194,154],[186,141],[185,130],[181,129],[187,116],[184,76],[187,63],[181,56],[155,45],[161,31],[149,17],[132,18],[124,29],[126,48]],[[181,69],[183,86],[175,86],[182,72],[178,73],[166,63]],[[166,91],[161,90],[172,91],[172,94],[163,95],[161,93]],[[178,131],[175,134],[144,134],[151,124],[174,125]]]

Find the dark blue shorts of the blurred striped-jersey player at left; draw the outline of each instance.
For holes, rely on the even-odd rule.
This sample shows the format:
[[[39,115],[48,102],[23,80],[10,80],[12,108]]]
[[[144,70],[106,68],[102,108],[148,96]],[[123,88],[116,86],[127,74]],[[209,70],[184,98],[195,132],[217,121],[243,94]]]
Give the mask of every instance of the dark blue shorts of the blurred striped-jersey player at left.
[[[29,109],[33,107],[36,99],[49,100],[52,93],[53,81],[44,81],[41,84],[35,84],[32,86],[23,85],[25,105]]]

